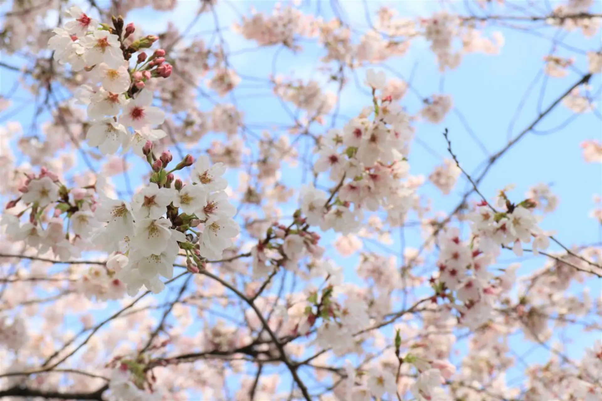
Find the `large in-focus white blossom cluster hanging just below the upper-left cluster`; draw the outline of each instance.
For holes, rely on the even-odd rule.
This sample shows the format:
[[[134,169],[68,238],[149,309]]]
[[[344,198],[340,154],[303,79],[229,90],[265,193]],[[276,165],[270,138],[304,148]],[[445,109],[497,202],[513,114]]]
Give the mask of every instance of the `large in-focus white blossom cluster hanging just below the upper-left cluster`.
[[[148,155],[149,148],[144,149]],[[239,232],[232,219],[236,209],[223,191],[228,186],[223,164],[209,165],[208,157],[202,156],[193,165],[187,156],[171,170],[193,166],[193,183],[184,185],[165,170],[170,161],[171,155],[162,153],[152,164],[151,182],[131,202],[103,197],[96,205],[96,218],[107,225],[93,241],[108,253],[121,253],[113,257],[121,260],[113,263],[122,266],[116,278],[126,284],[129,295],[142,286],[161,292],[160,277],[173,278],[180,249],[185,251],[186,267],[198,272],[202,260],[220,259]],[[200,224],[202,232],[193,230]],[[188,230],[194,235],[187,237]]]

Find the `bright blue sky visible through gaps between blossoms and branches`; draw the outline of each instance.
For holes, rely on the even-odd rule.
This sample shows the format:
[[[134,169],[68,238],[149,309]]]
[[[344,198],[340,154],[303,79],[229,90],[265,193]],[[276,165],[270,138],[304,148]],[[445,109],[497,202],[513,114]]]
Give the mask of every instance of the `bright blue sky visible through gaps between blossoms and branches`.
[[[170,13],[158,14],[149,9],[137,10],[129,14],[128,21],[140,23],[146,33],[157,33],[163,31],[168,20],[178,21],[179,26],[187,26],[194,17],[196,11],[196,1],[180,1],[176,10]],[[317,2],[304,2],[303,10],[315,12]],[[364,30],[366,23],[364,19],[364,6],[374,10],[377,2],[373,1],[341,1],[341,5],[346,15],[346,19],[356,29]],[[404,16],[426,16],[430,10],[438,10],[438,2],[434,1],[397,1],[382,2],[380,4],[389,4]],[[513,4],[519,4],[514,2]],[[553,3],[556,4],[556,3]],[[231,2],[231,4],[222,4],[218,8],[218,19],[220,26],[231,26],[231,23],[237,19],[231,7],[235,7],[243,14],[248,15],[252,5],[259,11],[268,11],[272,9],[273,2]],[[455,3],[456,9],[464,11],[461,2]],[[597,10],[602,12],[602,3],[595,4]],[[333,16],[329,2],[321,2],[321,15],[324,19],[330,19]],[[500,14],[507,15],[507,11],[500,11]],[[52,17],[52,16],[51,16]],[[49,17],[49,18],[51,18]],[[205,14],[199,19],[196,28],[191,29],[190,35],[197,32],[213,31],[213,16]],[[514,128],[509,129],[510,121],[517,113],[517,107],[521,98],[524,96],[527,88],[532,84],[535,77],[541,72],[544,63],[542,58],[550,52],[550,38],[554,37],[556,31],[550,28],[537,29],[538,35],[544,35],[547,38],[541,38],[534,34],[509,28],[488,29],[489,34],[499,30],[503,33],[505,44],[501,55],[481,55],[471,54],[464,58],[458,70],[447,72],[444,76],[438,72],[435,56],[427,49],[424,41],[415,41],[409,53],[403,58],[397,58],[386,63],[388,71],[394,71],[400,77],[408,79],[412,76],[412,86],[420,93],[416,96],[412,91],[408,91],[402,105],[408,108],[409,112],[415,113],[421,108],[421,97],[427,97],[432,94],[448,93],[452,94],[454,106],[457,112],[464,116],[465,122],[458,114],[451,112],[445,121],[441,124],[418,123],[416,138],[426,144],[429,149],[421,144],[415,143],[413,151],[409,158],[411,164],[411,174],[423,174],[427,177],[436,165],[441,163],[442,158],[449,158],[447,155],[447,144],[442,136],[444,128],[450,132],[453,150],[459,158],[462,167],[474,176],[478,176],[479,167],[483,161],[486,161],[489,155],[503,148],[509,138],[514,138],[524,127],[529,126],[540,111],[539,103],[545,109],[547,105],[553,102],[559,94],[562,94],[580,78],[579,72],[586,71],[585,54],[571,52],[561,46],[558,47],[556,55],[576,57],[576,72],[569,72],[567,78],[540,78],[535,89],[530,94],[529,100],[520,108],[520,114],[515,118]],[[211,40],[211,34],[204,34],[206,40]],[[585,40],[579,33],[562,34],[562,41],[569,46],[576,47],[582,51],[597,50],[600,48],[601,41],[599,35]],[[305,51],[294,55],[289,51],[278,51],[275,47],[259,49],[246,52],[244,49],[252,49],[255,44],[241,39],[232,32],[223,29],[223,38],[228,43],[229,51],[232,52],[229,62],[235,70],[245,77],[240,88],[235,90],[235,98],[239,109],[244,111],[245,122],[249,126],[256,124],[285,124],[290,123],[290,117],[282,108],[278,100],[273,97],[269,88],[259,89],[261,80],[267,78],[268,73],[272,72],[275,66],[276,72],[284,75],[293,75],[294,78],[320,78],[320,72],[316,70],[318,58],[321,55],[320,49],[312,43],[302,43]],[[217,43],[217,38],[213,38]],[[278,52],[278,59],[274,63],[274,55]],[[13,66],[20,66],[23,63],[21,58],[7,57],[2,55],[2,61]],[[384,68],[384,67],[383,67]],[[376,67],[378,69],[378,67]],[[388,73],[389,75],[389,73]],[[358,71],[359,84],[363,82],[363,70]],[[252,79],[256,77],[257,79]],[[11,88],[11,83],[16,75],[6,70],[2,70],[0,75],[0,93],[4,94]],[[600,75],[595,76],[591,81],[592,93],[597,94],[598,102],[600,95]],[[545,87],[545,91],[542,90]],[[330,84],[329,88],[335,92],[336,87]],[[349,85],[343,91],[341,97],[340,115],[353,117],[362,106],[370,102],[369,97],[364,93],[365,88],[358,88],[356,85]],[[17,91],[16,96],[26,99],[27,94],[23,91]],[[541,100],[539,99],[541,97]],[[226,96],[220,99],[213,96],[213,99],[219,102],[230,102],[231,97]],[[16,105],[19,102],[15,102]],[[205,99],[199,98],[200,108],[203,111],[211,109],[211,103]],[[293,106],[290,106],[294,110]],[[31,116],[34,113],[34,107],[26,106],[21,111],[12,114],[10,109],[3,114],[11,114],[10,120],[20,121],[23,127],[29,126]],[[548,115],[537,126],[540,132],[553,130],[549,134],[534,135],[529,133],[509,152],[507,152],[494,167],[489,171],[482,184],[480,191],[486,197],[493,197],[498,189],[503,188],[509,183],[515,183],[516,189],[510,192],[515,200],[522,200],[529,186],[539,182],[553,183],[552,190],[559,196],[560,203],[556,212],[546,216],[541,226],[545,230],[557,231],[556,237],[565,245],[579,245],[583,243],[594,243],[602,241],[600,225],[594,220],[588,218],[589,211],[594,207],[592,201],[593,194],[602,193],[602,171],[600,164],[586,164],[582,159],[582,150],[579,147],[580,142],[585,139],[600,139],[602,135],[602,122],[594,113],[580,115],[571,120],[570,124],[563,126],[560,130],[554,130],[556,127],[565,124],[573,112],[559,105],[550,115]],[[5,123],[4,116],[0,115],[0,121]],[[341,126],[344,120],[337,121],[337,126]],[[324,129],[330,125],[315,127],[312,132],[323,133]],[[467,126],[474,132],[479,140],[488,150],[487,154],[471,138]],[[256,129],[261,132],[261,129]],[[282,132],[272,132],[272,136],[282,135]],[[193,147],[188,152],[195,154],[206,149],[211,139],[216,136],[208,135],[202,139],[197,147]],[[305,144],[300,142],[300,153],[305,149]],[[256,148],[253,148],[256,155]],[[176,153],[174,153],[175,155]],[[131,159],[133,160],[133,159]],[[141,172],[146,167],[134,168],[132,177]],[[232,186],[235,188],[237,174],[229,173]],[[291,188],[299,188],[304,181],[304,175],[299,168],[284,167],[282,171],[282,182]],[[117,183],[122,179],[117,179]],[[332,186],[334,183],[327,180],[321,180],[323,186]],[[134,182],[134,187],[138,183]],[[458,204],[462,194],[470,188],[470,183],[462,177],[455,191],[447,197],[441,196],[439,190],[430,184],[426,184],[420,189],[420,193],[432,199],[434,210],[450,212]],[[294,210],[294,204],[288,204],[283,207],[283,215],[287,216]],[[415,216],[414,216],[415,217]],[[400,243],[394,236],[393,243],[386,245],[389,249],[398,252]],[[323,236],[323,242],[332,241],[334,236],[326,234]],[[406,228],[405,245],[418,248],[421,244],[421,237],[418,230]],[[375,248],[376,249],[376,248]],[[551,247],[554,249],[554,246]],[[356,266],[356,258],[341,259],[329,252],[329,257],[333,257],[335,262],[344,266],[346,277],[349,280],[353,278]],[[506,253],[500,257],[500,265],[503,267],[506,260],[515,260],[514,254]],[[433,257],[431,257],[433,260]],[[526,259],[523,262],[521,273],[527,273],[535,268],[539,268],[543,259]],[[177,284],[177,283],[175,283]],[[600,296],[599,281],[590,281],[589,287],[592,290],[592,296]],[[179,287],[179,286],[178,286]],[[577,289],[577,288],[576,288]],[[175,295],[175,294],[174,294]],[[169,293],[165,296],[172,297]],[[107,313],[112,310],[109,308]],[[99,319],[101,316],[99,316]],[[191,328],[194,329],[194,328]],[[579,355],[584,346],[592,344],[595,338],[600,338],[600,334],[581,334],[576,329],[569,329],[566,335],[573,338],[574,344],[566,350],[568,355]],[[529,349],[520,339],[513,340],[514,351],[518,354]],[[464,345],[458,344],[459,349],[464,349]],[[539,360],[544,357],[544,352],[538,351],[530,354],[531,361]],[[509,373],[508,378],[520,377],[519,371]]]

